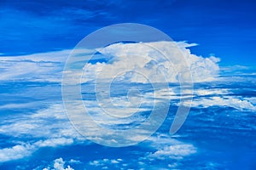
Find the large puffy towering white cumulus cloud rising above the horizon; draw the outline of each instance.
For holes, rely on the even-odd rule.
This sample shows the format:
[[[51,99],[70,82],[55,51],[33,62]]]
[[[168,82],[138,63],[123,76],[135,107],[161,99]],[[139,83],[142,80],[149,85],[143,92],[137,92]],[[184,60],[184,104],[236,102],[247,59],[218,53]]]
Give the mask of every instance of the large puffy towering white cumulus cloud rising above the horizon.
[[[187,42],[114,43],[98,49],[108,61],[84,66],[84,82],[117,79],[127,82],[207,82],[218,76],[216,57],[203,58]]]

